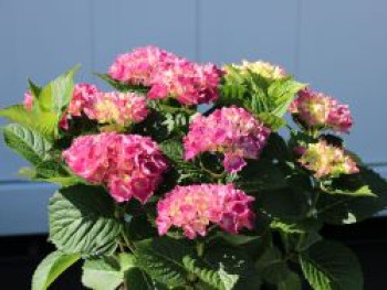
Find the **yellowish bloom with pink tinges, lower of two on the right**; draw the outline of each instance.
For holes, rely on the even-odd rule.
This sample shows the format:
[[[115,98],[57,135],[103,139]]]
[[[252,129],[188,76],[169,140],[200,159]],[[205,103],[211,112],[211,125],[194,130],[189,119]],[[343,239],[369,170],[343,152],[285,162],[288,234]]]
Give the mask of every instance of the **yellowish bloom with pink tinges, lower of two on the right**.
[[[316,178],[353,174],[359,172],[356,162],[342,148],[328,144],[325,140],[299,148],[299,162],[313,171]]]

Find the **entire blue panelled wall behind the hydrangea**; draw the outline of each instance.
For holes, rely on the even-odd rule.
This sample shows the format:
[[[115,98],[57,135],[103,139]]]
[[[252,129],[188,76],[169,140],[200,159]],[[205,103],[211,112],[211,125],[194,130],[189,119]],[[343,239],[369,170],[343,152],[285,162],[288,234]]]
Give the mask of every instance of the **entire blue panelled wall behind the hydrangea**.
[[[349,104],[347,146],[387,172],[386,0],[0,0],[0,107],[27,77],[49,82],[75,63],[96,82],[118,53],[154,44],[199,62],[265,60]],[[46,230],[53,186],[21,182],[0,142],[0,235]]]

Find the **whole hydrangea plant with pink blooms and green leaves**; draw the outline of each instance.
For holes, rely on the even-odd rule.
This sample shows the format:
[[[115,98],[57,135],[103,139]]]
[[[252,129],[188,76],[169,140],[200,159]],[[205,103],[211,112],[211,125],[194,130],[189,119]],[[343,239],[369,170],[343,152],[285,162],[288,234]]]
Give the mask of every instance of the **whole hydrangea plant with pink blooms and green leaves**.
[[[113,92],[74,84],[76,71],[29,80],[24,104],[0,110],[6,143],[31,163],[21,173],[59,185],[57,250],[33,290],[79,260],[96,290],[363,289],[354,254],[321,234],[387,205],[386,181],[342,139],[348,106],[265,62],[218,67],[153,46],[98,74]]]

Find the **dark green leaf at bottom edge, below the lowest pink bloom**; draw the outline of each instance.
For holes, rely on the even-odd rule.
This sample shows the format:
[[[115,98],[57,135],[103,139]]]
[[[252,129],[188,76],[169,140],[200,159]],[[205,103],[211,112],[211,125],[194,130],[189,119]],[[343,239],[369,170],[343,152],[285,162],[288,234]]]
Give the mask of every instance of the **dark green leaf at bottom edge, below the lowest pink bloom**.
[[[186,284],[188,271],[182,259],[194,254],[182,241],[168,237],[138,241],[135,250],[138,267],[169,287]]]

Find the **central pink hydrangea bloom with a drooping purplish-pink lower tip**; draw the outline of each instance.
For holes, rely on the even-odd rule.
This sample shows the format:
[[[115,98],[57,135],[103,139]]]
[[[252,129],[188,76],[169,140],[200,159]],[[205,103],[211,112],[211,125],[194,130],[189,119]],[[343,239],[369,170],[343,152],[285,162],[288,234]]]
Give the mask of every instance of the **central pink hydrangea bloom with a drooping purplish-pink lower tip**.
[[[245,165],[244,159],[259,158],[270,132],[243,108],[217,109],[208,117],[196,117],[190,123],[184,139],[185,158],[190,160],[206,151],[222,152],[224,169],[234,173]]]

